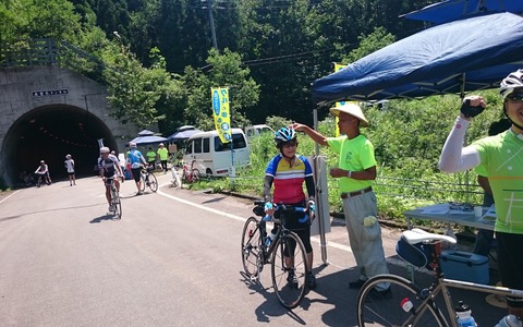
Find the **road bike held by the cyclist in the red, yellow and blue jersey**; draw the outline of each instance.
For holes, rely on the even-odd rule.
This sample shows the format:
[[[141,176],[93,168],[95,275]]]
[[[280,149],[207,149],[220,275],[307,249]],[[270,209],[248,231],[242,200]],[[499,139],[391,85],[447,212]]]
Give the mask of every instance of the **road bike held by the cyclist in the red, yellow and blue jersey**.
[[[256,201],[253,213],[266,217],[265,202]],[[307,254],[296,233],[285,228],[285,216],[304,208],[278,205],[279,219],[272,219],[276,237],[267,242],[266,218],[250,217],[243,227],[242,262],[246,276],[255,281],[264,265],[270,263],[272,287],[280,303],[296,307],[308,290]],[[308,218],[308,217],[307,217]],[[307,226],[308,228],[308,226]]]

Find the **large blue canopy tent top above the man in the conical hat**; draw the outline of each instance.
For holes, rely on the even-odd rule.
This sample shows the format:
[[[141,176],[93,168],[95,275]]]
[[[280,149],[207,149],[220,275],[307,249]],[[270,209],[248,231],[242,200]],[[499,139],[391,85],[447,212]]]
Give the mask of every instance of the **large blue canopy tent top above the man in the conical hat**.
[[[496,13],[424,29],[314,81],[313,100],[384,100],[492,88],[523,68],[523,17]]]

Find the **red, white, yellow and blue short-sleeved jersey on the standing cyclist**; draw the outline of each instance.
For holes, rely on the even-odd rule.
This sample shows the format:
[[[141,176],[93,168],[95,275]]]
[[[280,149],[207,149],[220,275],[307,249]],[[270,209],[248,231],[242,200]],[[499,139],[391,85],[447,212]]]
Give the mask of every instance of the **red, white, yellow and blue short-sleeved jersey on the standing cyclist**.
[[[293,166],[290,167],[279,154],[269,161],[265,174],[275,179],[272,198],[276,204],[295,204],[305,199],[302,185],[306,177],[313,175],[313,169],[307,158],[303,156],[296,156]]]

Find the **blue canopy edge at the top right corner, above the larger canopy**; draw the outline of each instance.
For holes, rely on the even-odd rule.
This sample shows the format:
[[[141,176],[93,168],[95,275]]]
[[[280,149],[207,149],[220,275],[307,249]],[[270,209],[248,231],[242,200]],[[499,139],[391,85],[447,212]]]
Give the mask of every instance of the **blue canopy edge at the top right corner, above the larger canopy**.
[[[478,14],[498,12],[523,12],[521,0],[447,0],[429,4],[419,10],[401,15],[416,21],[442,24]]]

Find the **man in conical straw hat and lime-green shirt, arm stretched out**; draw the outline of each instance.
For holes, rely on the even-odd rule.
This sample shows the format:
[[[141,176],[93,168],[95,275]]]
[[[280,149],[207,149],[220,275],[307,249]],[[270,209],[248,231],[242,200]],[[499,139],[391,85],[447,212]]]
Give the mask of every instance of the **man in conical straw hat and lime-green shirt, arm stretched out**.
[[[293,123],[291,128],[305,132],[314,142],[339,154],[338,167],[330,169],[330,175],[339,181],[349,242],[360,272],[360,278],[349,282],[349,288],[360,289],[368,278],[389,272],[372,187],[376,179],[376,159],[373,144],[360,132],[360,126],[368,126],[360,106],[348,104],[331,108],[330,112],[339,118],[338,126],[343,136],[326,137],[301,123]],[[372,291],[376,298],[390,294],[386,283]]]

